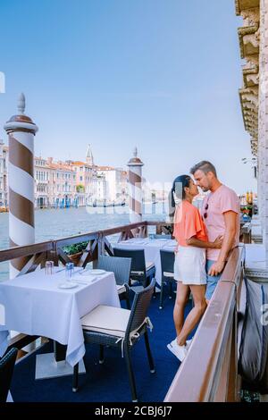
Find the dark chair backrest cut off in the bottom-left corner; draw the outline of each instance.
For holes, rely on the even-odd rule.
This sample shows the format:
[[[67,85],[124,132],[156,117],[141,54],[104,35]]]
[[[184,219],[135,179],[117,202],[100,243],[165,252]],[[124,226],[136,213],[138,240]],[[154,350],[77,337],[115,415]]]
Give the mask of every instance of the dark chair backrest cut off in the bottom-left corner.
[[[0,402],[5,402],[13,378],[13,369],[18,349],[10,349],[0,358]]]

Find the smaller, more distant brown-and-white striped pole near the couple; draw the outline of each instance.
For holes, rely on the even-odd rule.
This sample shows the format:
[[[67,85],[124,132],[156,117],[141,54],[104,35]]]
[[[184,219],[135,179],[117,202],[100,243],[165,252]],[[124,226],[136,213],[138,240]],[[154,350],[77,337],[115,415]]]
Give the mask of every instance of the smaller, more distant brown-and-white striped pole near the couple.
[[[130,197],[130,223],[142,221],[142,166],[138,158],[137,147],[134,156],[128,163],[129,166],[129,197]]]

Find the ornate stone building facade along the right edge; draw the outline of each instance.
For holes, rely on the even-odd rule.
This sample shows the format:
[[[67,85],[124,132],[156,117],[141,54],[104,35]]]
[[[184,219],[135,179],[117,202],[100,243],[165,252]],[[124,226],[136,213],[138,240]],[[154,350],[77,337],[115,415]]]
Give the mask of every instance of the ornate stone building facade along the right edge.
[[[257,161],[258,223],[268,268],[268,0],[236,0],[243,87],[239,90],[245,129]],[[260,259],[260,258],[259,258]]]

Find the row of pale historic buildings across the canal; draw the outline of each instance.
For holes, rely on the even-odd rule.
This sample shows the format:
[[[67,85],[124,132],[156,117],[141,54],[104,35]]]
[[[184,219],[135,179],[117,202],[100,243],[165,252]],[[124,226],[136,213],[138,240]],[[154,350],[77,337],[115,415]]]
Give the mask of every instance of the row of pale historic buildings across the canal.
[[[0,207],[8,206],[8,147],[0,140]],[[35,207],[87,206],[92,200],[116,201],[125,197],[127,172],[96,166],[88,146],[86,162],[34,159]]]

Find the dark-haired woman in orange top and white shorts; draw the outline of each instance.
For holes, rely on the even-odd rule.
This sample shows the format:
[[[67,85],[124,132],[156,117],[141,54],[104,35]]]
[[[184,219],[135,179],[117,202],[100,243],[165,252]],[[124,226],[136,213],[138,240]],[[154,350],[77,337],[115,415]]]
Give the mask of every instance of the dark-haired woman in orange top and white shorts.
[[[173,182],[172,208],[175,208],[175,197],[180,201],[175,210],[173,230],[173,236],[178,242],[174,263],[177,296],[173,311],[177,337],[167,347],[180,361],[186,356],[190,344],[190,340],[187,341],[188,334],[205,312],[205,249],[222,247],[221,238],[208,242],[205,223],[197,207],[192,204],[198,194],[197,185],[188,175],[181,175]],[[184,322],[184,309],[190,291],[195,306]]]

